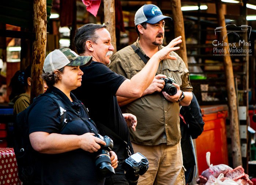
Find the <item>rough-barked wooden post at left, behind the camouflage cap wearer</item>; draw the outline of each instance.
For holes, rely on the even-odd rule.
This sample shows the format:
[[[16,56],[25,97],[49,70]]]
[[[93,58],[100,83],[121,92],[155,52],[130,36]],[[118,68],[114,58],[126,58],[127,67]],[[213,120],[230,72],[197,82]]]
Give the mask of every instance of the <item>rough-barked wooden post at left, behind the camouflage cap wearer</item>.
[[[43,81],[41,79],[42,69],[45,60],[46,49],[46,0],[34,0],[34,32],[36,35],[33,42],[32,66],[31,66],[31,94],[30,103],[34,97],[43,92]]]

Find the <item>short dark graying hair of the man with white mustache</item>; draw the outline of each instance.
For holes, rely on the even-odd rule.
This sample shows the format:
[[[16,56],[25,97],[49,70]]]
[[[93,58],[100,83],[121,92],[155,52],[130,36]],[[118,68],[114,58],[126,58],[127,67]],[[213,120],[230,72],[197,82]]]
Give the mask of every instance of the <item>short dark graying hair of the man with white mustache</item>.
[[[99,38],[95,31],[106,28],[105,25],[102,24],[84,24],[82,27],[76,30],[74,42],[76,51],[78,54],[84,53],[86,51],[86,41],[90,40],[92,42],[96,42]]]

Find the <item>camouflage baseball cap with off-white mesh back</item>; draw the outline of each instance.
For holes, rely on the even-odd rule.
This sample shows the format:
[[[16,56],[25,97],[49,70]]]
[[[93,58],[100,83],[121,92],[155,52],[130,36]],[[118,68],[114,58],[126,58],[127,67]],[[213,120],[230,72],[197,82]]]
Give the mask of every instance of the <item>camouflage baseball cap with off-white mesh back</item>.
[[[64,66],[84,66],[89,65],[93,58],[91,56],[79,56],[68,48],[56,49],[50,52],[44,61],[44,72],[52,73],[56,69]]]

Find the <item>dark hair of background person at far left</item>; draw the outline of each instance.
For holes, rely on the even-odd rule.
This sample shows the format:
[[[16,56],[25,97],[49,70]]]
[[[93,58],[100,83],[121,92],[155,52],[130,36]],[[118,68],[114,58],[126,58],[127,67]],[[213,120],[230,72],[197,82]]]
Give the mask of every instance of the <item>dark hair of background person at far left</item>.
[[[26,89],[28,88],[27,78],[29,77],[31,77],[31,66],[28,66],[25,70],[18,70],[14,74],[9,85],[11,88],[9,100],[26,92]]]

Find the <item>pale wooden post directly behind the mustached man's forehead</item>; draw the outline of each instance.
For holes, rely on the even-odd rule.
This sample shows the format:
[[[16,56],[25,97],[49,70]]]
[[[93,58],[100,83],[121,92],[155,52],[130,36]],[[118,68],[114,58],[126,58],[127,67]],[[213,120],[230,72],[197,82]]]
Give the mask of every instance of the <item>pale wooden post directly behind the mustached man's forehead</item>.
[[[115,19],[115,1],[104,0],[104,23],[111,35],[111,43],[114,46],[116,53],[116,19]]]

